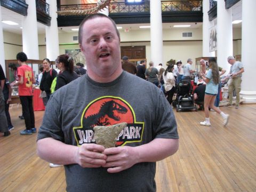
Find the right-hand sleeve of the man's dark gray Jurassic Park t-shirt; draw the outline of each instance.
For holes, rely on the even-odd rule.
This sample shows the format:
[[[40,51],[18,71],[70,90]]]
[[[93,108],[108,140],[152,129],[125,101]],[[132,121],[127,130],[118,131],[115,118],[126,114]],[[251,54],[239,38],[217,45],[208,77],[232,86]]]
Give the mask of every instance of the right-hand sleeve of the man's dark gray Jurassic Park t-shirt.
[[[156,121],[153,125],[153,139],[179,139],[177,123],[171,105],[165,98],[163,92],[159,95],[156,106]]]

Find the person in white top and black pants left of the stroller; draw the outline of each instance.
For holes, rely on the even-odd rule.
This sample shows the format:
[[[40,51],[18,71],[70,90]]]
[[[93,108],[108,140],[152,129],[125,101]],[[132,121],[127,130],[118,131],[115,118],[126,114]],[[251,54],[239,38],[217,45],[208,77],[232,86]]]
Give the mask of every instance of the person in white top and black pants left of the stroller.
[[[175,77],[172,73],[174,69],[173,65],[168,65],[164,71],[163,79],[164,79],[164,89],[166,91],[167,100],[169,101],[170,105],[172,104],[172,98],[176,91],[175,89]]]

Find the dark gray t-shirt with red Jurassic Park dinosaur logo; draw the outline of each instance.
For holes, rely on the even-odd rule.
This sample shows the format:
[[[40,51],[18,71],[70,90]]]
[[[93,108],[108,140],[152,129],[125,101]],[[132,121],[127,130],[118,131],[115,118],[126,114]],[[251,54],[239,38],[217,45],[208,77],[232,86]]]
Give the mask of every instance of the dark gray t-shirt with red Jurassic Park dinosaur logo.
[[[52,137],[68,145],[95,143],[93,126],[127,122],[116,146],[140,146],[155,138],[178,139],[172,108],[154,84],[125,71],[113,82],[84,75],[55,91],[37,139]],[[150,151],[149,151],[150,153]],[[156,191],[155,162],[119,173],[104,167],[65,165],[67,191]]]

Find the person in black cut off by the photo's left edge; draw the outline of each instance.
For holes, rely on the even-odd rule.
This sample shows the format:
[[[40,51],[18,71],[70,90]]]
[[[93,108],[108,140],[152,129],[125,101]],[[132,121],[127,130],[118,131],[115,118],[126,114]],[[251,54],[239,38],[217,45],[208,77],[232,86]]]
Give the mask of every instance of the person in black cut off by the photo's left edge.
[[[0,65],[0,132],[4,133],[4,136],[7,137],[11,133],[8,130],[8,124],[7,124],[7,119],[6,115],[4,112],[4,94],[3,94],[3,89],[4,89],[4,81],[5,81],[5,75],[4,75],[4,70],[2,66]]]

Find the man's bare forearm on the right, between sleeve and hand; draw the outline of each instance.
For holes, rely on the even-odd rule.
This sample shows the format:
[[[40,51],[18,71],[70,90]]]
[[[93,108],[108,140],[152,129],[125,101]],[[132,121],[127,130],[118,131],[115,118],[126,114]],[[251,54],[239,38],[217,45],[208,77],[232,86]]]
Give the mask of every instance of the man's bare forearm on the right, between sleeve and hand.
[[[173,155],[179,148],[179,139],[154,139],[153,141],[135,147],[138,163],[157,162]]]

